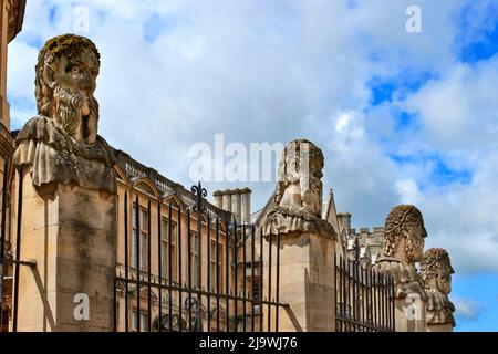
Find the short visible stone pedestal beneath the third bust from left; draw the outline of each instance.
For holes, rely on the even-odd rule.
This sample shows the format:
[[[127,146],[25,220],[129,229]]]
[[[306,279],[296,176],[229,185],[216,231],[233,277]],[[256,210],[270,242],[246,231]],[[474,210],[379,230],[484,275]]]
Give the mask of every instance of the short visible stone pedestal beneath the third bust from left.
[[[426,332],[425,301],[417,294],[395,300],[395,331]]]

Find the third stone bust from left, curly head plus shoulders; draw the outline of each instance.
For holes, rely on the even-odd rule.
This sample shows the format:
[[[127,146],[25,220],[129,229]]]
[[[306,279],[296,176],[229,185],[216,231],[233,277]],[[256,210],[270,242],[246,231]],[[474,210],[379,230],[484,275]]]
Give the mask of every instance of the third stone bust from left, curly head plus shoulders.
[[[415,293],[425,300],[415,262],[422,261],[426,236],[422,212],[415,206],[400,205],[391,210],[384,228],[384,256],[374,269],[393,277],[397,299]]]

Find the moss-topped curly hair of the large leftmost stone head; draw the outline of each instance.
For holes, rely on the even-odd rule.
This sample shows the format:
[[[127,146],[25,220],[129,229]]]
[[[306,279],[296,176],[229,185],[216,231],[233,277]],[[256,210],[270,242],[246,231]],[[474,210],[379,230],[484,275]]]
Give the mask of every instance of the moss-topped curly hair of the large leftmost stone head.
[[[75,34],[63,34],[46,41],[45,45],[38,55],[38,63],[35,66],[34,80],[34,95],[37,97],[38,113],[44,116],[50,116],[53,102],[53,93],[55,86],[49,85],[45,80],[46,66],[51,66],[56,59],[65,56],[74,56],[81,54],[84,50],[91,50],[101,63],[101,55],[95,44],[87,38]]]

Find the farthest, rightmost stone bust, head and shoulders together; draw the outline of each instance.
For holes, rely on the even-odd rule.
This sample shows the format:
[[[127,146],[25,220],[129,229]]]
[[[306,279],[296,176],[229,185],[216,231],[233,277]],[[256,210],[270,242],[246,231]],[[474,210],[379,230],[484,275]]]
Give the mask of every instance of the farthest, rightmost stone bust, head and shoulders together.
[[[455,305],[448,299],[454,270],[448,252],[442,248],[432,248],[424,253],[421,266],[427,294],[425,306],[427,325],[450,324],[454,327]]]

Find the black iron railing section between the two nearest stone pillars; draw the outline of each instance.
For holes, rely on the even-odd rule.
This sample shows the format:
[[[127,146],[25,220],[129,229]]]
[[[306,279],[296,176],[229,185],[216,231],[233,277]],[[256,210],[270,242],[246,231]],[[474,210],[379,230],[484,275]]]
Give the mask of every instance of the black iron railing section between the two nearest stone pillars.
[[[118,256],[122,263],[115,278],[115,331],[278,332],[279,309],[283,306],[279,303],[278,235],[263,241],[253,225],[212,217],[200,184],[191,188],[195,202],[186,208],[158,201],[153,210],[151,197],[144,201],[139,191],[132,194],[124,196],[120,236],[124,254]],[[139,211],[141,201],[146,205],[146,217]],[[131,208],[135,212],[132,225]],[[151,229],[153,215],[157,218],[155,230]],[[142,230],[148,232],[148,242],[139,241]],[[141,251],[144,247],[146,252]],[[263,247],[269,252],[267,264]],[[141,269],[144,254],[147,266]],[[272,262],[272,257],[277,261]]]

